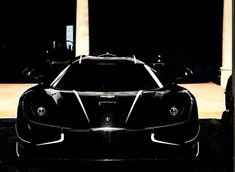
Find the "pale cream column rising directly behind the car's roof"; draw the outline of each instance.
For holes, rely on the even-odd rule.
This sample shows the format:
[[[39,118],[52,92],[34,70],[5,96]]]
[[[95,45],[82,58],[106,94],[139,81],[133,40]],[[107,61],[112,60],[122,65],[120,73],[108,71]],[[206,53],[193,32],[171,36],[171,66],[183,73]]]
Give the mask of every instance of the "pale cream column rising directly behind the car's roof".
[[[88,0],[77,0],[75,55],[89,54]]]

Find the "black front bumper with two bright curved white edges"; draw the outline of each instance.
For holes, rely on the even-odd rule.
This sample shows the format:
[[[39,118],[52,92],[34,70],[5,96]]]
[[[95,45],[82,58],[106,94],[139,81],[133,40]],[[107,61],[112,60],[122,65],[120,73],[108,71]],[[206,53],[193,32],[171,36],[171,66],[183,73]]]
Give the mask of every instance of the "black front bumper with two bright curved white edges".
[[[199,126],[191,137],[183,140],[179,140],[177,135],[172,136],[177,139],[161,139],[158,136],[164,130],[156,128],[127,130],[105,127],[76,130],[34,124],[28,127],[31,131],[31,137],[28,138],[17,128],[19,139],[16,153],[19,157],[24,154],[65,160],[107,161],[185,159],[199,154]]]

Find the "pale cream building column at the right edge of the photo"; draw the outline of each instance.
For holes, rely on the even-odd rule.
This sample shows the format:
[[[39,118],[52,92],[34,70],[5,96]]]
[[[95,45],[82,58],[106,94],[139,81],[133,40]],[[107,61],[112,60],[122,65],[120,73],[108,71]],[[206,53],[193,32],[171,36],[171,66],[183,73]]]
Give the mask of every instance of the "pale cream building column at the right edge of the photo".
[[[220,85],[225,87],[232,74],[232,0],[224,0],[223,47]]]

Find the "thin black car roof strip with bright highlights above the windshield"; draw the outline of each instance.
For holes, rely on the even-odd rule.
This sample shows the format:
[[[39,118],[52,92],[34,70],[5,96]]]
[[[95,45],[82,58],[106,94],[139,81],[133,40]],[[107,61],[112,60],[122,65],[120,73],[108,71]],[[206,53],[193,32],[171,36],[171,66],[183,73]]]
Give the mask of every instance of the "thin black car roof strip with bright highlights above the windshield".
[[[98,64],[98,63],[115,63],[115,64],[145,64],[139,59],[136,59],[135,56],[133,57],[118,57],[113,55],[106,55],[106,56],[78,56],[72,63],[79,63],[79,64]]]

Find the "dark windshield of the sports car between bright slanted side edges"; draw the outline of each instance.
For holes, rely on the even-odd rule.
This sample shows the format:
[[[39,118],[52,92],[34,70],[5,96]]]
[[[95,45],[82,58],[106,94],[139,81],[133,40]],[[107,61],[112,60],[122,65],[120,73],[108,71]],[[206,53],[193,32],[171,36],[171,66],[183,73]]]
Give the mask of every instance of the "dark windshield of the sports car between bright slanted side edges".
[[[161,87],[159,79],[143,64],[72,64],[52,87],[77,91],[137,91]]]

